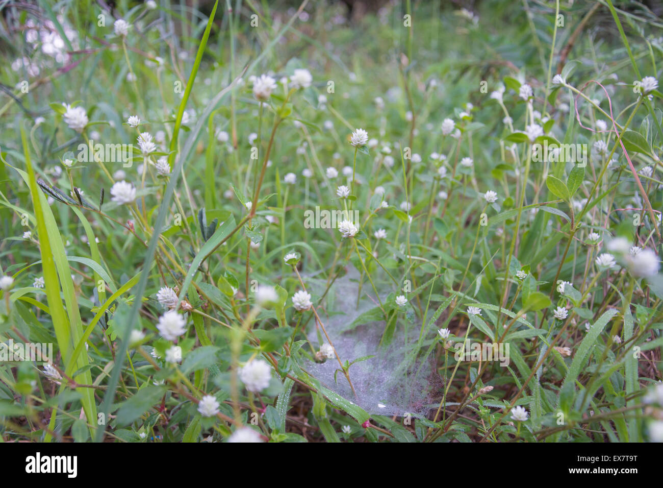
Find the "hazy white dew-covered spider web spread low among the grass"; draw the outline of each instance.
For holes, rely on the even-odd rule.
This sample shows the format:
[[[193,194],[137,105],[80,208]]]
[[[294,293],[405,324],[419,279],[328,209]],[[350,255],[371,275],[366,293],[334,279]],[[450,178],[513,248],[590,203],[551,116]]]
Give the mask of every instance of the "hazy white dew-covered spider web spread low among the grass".
[[[349,368],[356,396],[336,359],[328,359],[324,363],[306,361],[302,366],[324,386],[369,414],[404,416],[409,413],[412,416],[426,416],[432,402],[439,402],[442,396],[442,378],[434,365],[436,329],[430,327],[420,339],[421,321],[414,314],[412,304],[408,303],[404,307],[407,312],[400,311],[397,315],[389,345],[385,345],[384,341],[381,344],[387,322],[384,319],[376,320],[379,314],[371,317],[371,321],[354,324],[355,319],[364,313],[370,314],[370,310],[378,305],[375,292],[367,280],[357,303],[359,278],[359,273],[351,268],[351,271],[331,285],[323,302],[324,309],[318,307],[320,319],[343,363],[373,356]],[[326,282],[307,281],[314,293],[324,293]],[[378,290],[385,303],[391,289]],[[359,319],[357,322],[363,321]],[[322,330],[316,329],[314,319],[308,324],[307,333],[314,347],[319,348],[326,341]]]

